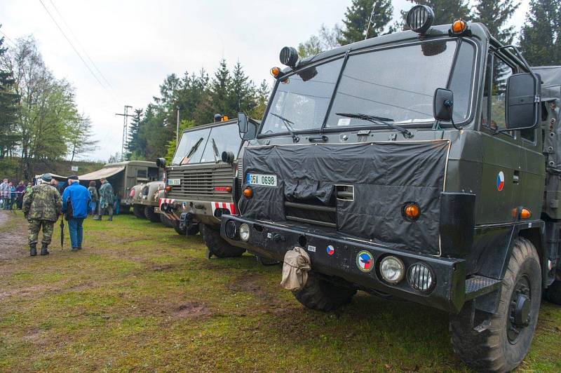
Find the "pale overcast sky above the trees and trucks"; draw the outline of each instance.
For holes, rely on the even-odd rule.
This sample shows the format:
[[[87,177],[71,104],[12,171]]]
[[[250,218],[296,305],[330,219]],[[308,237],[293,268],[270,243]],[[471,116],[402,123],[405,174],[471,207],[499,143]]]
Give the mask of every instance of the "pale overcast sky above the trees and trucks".
[[[99,149],[85,158],[103,161],[121,151],[123,117],[115,113],[122,113],[125,104],[146,107],[166,75],[198,72],[201,67],[212,74],[224,57],[230,67],[239,60],[255,83],[270,82],[269,69],[278,65],[280,48],[297,46],[316,34],[322,23],[329,27],[341,23],[351,4],[351,0],[42,1],[104,87],[41,1],[1,0],[0,32],[11,40],[33,34],[46,65],[56,77],[72,82],[79,109],[92,118],[95,139],[100,140]],[[527,3],[522,0],[511,20],[514,25],[522,25]],[[396,0],[393,6],[397,15],[411,3]]]

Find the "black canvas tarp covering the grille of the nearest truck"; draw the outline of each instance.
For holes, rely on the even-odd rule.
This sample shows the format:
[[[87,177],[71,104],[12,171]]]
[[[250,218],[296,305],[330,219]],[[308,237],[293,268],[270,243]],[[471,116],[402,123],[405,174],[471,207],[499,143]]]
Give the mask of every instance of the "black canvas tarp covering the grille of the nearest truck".
[[[400,250],[438,255],[440,192],[450,142],[379,142],[248,147],[248,172],[277,175],[277,186],[252,186],[241,214],[283,222],[285,201],[335,205],[337,231]],[[334,198],[335,185],[351,185],[352,201]],[[403,207],[417,202],[421,217],[407,221]]]

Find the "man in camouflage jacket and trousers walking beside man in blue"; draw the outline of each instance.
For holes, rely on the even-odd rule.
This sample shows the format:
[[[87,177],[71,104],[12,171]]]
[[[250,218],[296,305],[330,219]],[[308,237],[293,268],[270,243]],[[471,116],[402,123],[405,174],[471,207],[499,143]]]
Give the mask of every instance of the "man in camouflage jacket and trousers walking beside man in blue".
[[[53,239],[53,228],[62,210],[62,200],[58,190],[50,185],[52,177],[43,174],[42,184],[34,186],[23,198],[23,213],[29,222],[27,233],[29,236],[29,255],[37,255],[37,239],[39,229],[43,227],[43,243],[41,255],[48,255],[47,247]]]

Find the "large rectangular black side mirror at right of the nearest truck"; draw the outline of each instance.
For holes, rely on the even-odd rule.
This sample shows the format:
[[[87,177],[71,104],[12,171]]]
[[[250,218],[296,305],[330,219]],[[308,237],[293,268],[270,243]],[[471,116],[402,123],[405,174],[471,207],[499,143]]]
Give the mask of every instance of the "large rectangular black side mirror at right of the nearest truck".
[[[534,128],[539,121],[539,81],[530,73],[513,74],[506,81],[506,128]]]

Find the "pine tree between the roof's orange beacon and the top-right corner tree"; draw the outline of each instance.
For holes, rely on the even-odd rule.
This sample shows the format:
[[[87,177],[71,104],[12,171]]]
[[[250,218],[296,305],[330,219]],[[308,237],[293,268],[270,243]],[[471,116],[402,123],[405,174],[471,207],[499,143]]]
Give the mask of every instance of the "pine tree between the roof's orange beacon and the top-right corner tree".
[[[520,3],[513,4],[513,0],[479,0],[473,20],[487,26],[492,36],[502,43],[510,44],[515,35],[514,26],[505,27],[505,24],[518,6]]]

